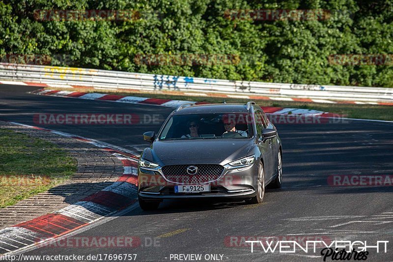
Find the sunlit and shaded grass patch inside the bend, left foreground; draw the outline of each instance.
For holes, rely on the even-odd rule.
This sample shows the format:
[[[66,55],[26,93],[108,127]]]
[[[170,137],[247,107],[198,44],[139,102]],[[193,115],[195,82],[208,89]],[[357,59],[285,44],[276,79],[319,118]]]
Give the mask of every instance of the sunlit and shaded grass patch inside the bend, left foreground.
[[[76,171],[77,161],[56,145],[0,129],[0,208],[45,192]]]

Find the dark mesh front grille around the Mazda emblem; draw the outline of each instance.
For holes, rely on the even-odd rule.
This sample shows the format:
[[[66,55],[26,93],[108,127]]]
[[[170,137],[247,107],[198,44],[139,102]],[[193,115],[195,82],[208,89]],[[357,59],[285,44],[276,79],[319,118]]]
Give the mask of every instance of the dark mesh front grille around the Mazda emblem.
[[[162,168],[163,175],[167,180],[174,183],[196,184],[207,183],[217,180],[224,171],[221,165],[192,165],[198,168],[197,175],[187,174],[190,165],[171,165]]]

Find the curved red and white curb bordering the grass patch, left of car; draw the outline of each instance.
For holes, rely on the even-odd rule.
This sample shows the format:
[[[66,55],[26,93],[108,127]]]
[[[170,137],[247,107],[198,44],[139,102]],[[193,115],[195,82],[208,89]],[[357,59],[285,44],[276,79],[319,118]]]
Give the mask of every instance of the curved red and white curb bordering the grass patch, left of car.
[[[138,154],[119,146],[113,146],[81,136],[21,123],[10,123],[52,132],[101,147],[122,161],[124,172],[110,186],[82,199],[80,202],[71,204],[53,213],[45,214],[0,230],[1,255],[14,253],[21,249],[52,240],[138,202]]]

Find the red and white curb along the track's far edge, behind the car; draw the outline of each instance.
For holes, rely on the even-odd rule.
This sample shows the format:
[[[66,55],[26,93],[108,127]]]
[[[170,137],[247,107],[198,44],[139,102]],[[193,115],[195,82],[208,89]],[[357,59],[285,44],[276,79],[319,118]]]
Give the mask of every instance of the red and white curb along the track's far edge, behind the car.
[[[79,98],[88,100],[98,100],[98,101],[111,101],[119,103],[128,104],[144,104],[144,105],[156,105],[163,107],[176,108],[184,103],[195,103],[195,104],[207,104],[205,102],[195,102],[186,100],[169,100],[160,98],[148,98],[148,97],[138,97],[138,96],[124,96],[124,95],[111,95],[102,93],[84,93],[75,91],[65,91],[65,90],[48,90],[40,89],[33,91],[32,93],[38,95],[49,95],[57,97],[68,97],[68,98]],[[319,117],[332,117],[337,114],[331,114],[328,112],[310,110],[310,109],[299,109],[299,108],[281,108],[281,107],[262,107],[266,114],[271,115],[291,115],[291,116],[319,116]]]

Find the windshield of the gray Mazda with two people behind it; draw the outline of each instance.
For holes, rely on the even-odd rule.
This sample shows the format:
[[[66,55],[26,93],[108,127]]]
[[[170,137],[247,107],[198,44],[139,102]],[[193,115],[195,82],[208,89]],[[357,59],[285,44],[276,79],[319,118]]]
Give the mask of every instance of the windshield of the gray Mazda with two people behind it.
[[[251,123],[247,113],[177,115],[168,120],[159,140],[251,138]]]

